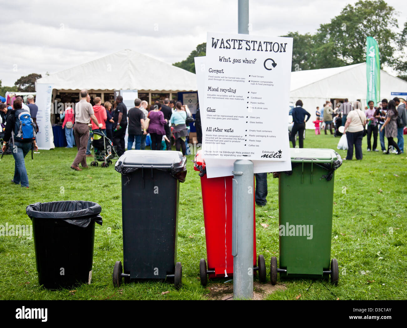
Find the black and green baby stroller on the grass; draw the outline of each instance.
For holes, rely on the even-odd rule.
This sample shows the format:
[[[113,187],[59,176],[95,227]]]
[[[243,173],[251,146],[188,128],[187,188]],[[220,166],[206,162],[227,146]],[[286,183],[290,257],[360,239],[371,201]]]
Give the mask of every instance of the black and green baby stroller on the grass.
[[[90,166],[98,166],[98,162],[103,162],[102,167],[109,167],[112,164],[110,158],[119,157],[113,147],[112,141],[102,132],[90,131],[91,148],[93,148],[94,161]]]

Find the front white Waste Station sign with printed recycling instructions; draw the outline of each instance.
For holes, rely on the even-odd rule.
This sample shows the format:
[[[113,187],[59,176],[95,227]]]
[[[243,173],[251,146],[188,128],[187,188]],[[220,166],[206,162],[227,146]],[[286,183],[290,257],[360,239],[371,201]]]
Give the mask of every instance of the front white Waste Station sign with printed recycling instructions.
[[[208,33],[206,44],[204,158],[288,161],[293,39]]]

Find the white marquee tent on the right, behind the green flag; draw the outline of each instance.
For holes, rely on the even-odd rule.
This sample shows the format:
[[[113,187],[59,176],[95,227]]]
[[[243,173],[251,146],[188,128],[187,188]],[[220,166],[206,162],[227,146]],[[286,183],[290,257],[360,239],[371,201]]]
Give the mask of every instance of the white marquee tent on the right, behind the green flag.
[[[326,100],[348,98],[350,102],[361,99],[362,108],[367,106],[366,63],[343,67],[291,72],[290,101],[301,99],[311,114],[306,128],[313,129],[315,110],[323,108]],[[392,92],[407,92],[407,82],[380,71],[380,99],[393,99]],[[370,99],[369,99],[370,100]]]

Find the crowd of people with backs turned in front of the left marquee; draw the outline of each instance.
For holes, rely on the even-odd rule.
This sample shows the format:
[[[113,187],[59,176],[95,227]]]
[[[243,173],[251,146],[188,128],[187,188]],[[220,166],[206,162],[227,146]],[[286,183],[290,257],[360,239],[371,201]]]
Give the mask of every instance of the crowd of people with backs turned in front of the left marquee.
[[[147,101],[141,99],[134,100],[134,107],[127,110],[123,103],[123,97],[117,96],[112,103],[101,104],[101,99],[94,99],[95,105],[90,104],[88,90],[81,90],[81,101],[75,105],[75,110],[71,107],[65,109],[62,128],[65,128],[67,143],[68,137],[71,142],[68,147],[72,147],[72,128],[78,154],[71,165],[73,170],[82,170],[79,167],[88,167],[86,157],[92,157],[90,152],[90,133],[88,125],[92,125],[92,132],[105,134],[112,140],[118,156],[125,152],[125,135],[128,133],[127,150],[134,148],[144,150],[146,147],[147,135],[151,139],[151,150],[171,150],[173,137],[175,148],[186,154],[186,137],[189,135],[187,126],[188,117],[192,117],[188,106],[181,102],[164,99],[161,104],[156,101],[147,110]],[[74,114],[73,114],[74,113]]]

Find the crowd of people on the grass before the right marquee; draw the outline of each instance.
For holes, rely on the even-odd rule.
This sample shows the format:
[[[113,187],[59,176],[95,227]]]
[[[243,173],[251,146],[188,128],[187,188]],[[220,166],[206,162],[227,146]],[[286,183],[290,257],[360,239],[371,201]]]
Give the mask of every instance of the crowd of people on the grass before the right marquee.
[[[295,103],[292,113],[294,125],[291,130],[291,141],[295,147],[295,134],[298,132],[299,146],[302,148],[304,147],[305,122],[311,115],[302,108],[301,100]],[[400,101],[398,97],[394,97],[390,101],[383,99],[377,106],[374,106],[374,101],[369,101],[365,110],[362,110],[359,100],[350,103],[348,99],[344,99],[343,103],[337,103],[336,106],[333,106],[330,101],[326,101],[321,110],[319,107],[316,108],[315,115],[316,119],[313,123],[316,135],[321,134],[321,130],[324,130],[325,134],[328,134],[329,130],[330,134],[334,136],[346,135],[348,153],[345,160],[351,160],[353,152],[355,152],[356,159],[363,158],[362,140],[365,135],[367,136],[368,152],[379,152],[377,149],[378,136],[383,154],[402,154],[404,152],[403,133],[407,125],[407,111],[406,103]],[[305,119],[305,117],[307,118]],[[387,148],[385,138],[387,138]]]

